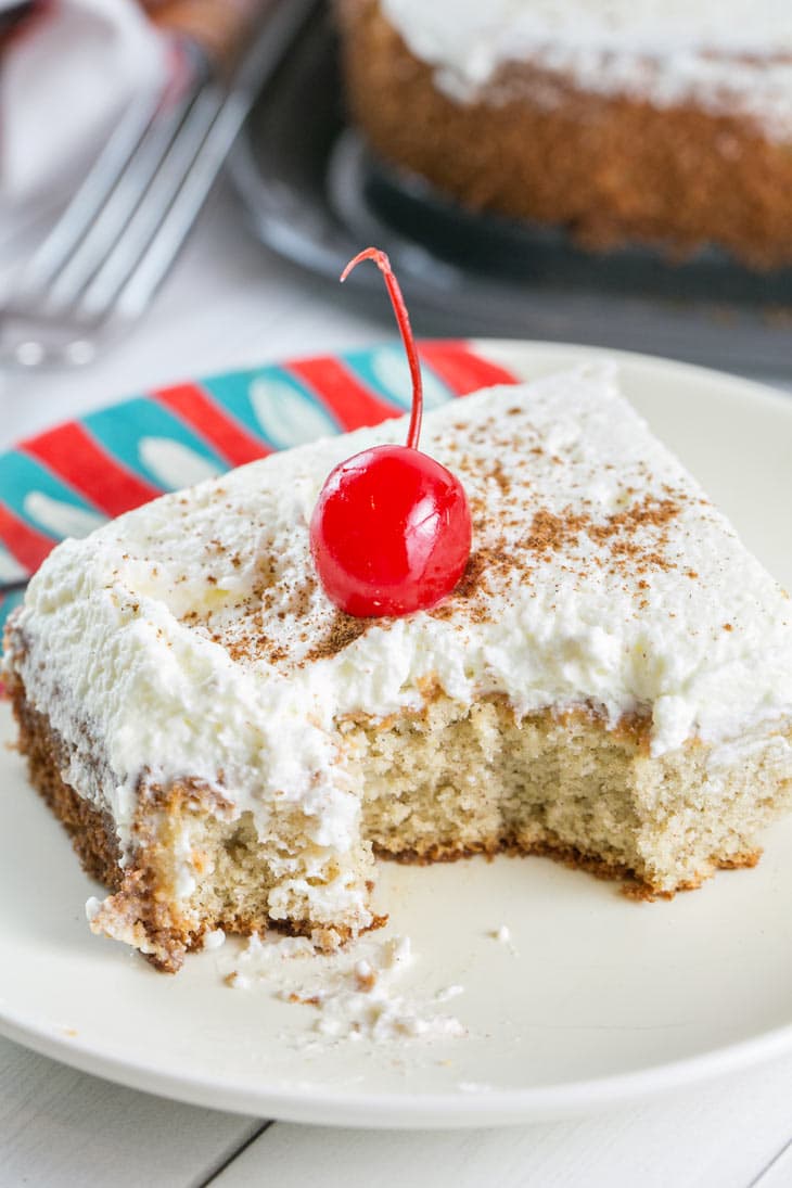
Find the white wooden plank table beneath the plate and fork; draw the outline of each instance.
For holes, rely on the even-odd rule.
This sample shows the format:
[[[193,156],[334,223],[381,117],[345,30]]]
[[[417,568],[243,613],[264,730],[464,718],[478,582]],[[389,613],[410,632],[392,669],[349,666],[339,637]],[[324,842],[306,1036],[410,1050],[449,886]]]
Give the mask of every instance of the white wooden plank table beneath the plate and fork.
[[[233,200],[221,192],[154,312],[129,339],[88,371],[0,377],[0,448],[154,384],[391,334],[259,252]],[[72,1072],[0,1038],[0,1188],[319,1182],[792,1186],[792,1059],[582,1120],[398,1133],[300,1127],[184,1106]]]

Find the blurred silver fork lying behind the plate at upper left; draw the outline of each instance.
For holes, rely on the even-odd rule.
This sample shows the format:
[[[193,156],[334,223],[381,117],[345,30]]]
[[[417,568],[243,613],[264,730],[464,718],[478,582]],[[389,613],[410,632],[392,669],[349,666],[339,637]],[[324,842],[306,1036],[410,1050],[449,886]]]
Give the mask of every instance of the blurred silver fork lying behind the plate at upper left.
[[[0,304],[0,364],[90,362],[147,309],[259,88],[317,0],[253,2],[259,27],[229,78],[188,36],[185,77],[129,107]]]

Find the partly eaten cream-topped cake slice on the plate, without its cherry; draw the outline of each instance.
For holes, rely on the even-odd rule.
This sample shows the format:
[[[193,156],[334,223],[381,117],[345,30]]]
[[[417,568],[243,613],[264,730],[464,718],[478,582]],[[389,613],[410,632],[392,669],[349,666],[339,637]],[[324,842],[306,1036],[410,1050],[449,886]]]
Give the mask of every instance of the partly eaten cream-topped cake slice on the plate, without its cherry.
[[[110,890],[91,927],[176,969],[267,924],[376,923],[374,854],[550,853],[693,887],[792,800],[787,595],[597,365],[427,415],[473,552],[430,611],[353,618],[309,524],[401,421],[66,541],[9,621],[33,784]]]

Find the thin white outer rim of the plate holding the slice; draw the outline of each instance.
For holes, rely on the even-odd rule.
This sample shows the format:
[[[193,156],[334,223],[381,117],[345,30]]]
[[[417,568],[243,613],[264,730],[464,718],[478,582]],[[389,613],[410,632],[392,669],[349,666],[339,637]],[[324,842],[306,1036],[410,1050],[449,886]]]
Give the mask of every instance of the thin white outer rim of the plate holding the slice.
[[[432,340],[426,340],[432,341]],[[588,360],[615,359],[616,362],[648,368],[654,375],[678,374],[698,383],[715,384],[742,398],[764,402],[792,416],[792,393],[761,380],[746,379],[712,367],[688,364],[641,352],[609,347],[565,343],[552,340],[515,340],[465,337],[458,341],[474,350],[495,352],[495,361],[511,355],[530,367],[536,361],[553,362],[558,355],[570,364]],[[376,350],[380,341],[362,350]],[[343,352],[332,352],[334,356]],[[310,355],[303,358],[311,358]],[[275,358],[274,362],[279,362]],[[265,365],[262,365],[265,366]],[[234,374],[246,368],[229,368],[214,377]],[[201,378],[195,380],[201,383]],[[113,407],[116,403],[108,405]],[[430,1091],[411,1098],[389,1092],[348,1092],[334,1087],[324,1092],[270,1088],[249,1091],[234,1085],[227,1075],[196,1078],[191,1074],[164,1072],[141,1061],[114,1056],[101,1047],[80,1043],[76,1037],[61,1036],[51,1028],[9,1007],[0,997],[0,1035],[44,1056],[57,1060],[90,1075],[110,1080],[129,1088],[153,1093],[195,1106],[226,1110],[232,1113],[254,1113],[278,1120],[359,1129],[464,1129],[473,1126],[519,1125],[556,1118],[579,1117],[636,1099],[652,1099],[674,1088],[714,1080],[728,1073],[748,1069],[792,1053],[792,1017],[790,1023],[760,1031],[734,1043],[721,1044],[690,1057],[650,1064],[629,1072],[568,1081],[559,1085],[534,1086],[528,1089],[488,1089],[480,1093],[460,1091]]]

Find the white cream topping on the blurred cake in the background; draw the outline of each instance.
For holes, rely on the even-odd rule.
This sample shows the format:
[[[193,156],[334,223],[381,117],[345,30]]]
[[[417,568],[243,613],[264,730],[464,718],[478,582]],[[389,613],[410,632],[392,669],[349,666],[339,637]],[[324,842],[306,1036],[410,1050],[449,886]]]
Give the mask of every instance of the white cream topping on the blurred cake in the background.
[[[505,63],[530,61],[584,90],[688,100],[792,135],[787,0],[380,0],[442,90],[474,100]],[[551,93],[546,101],[551,102]],[[493,96],[489,96],[493,97]]]

